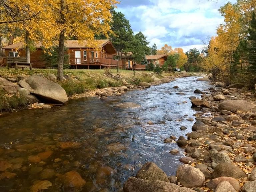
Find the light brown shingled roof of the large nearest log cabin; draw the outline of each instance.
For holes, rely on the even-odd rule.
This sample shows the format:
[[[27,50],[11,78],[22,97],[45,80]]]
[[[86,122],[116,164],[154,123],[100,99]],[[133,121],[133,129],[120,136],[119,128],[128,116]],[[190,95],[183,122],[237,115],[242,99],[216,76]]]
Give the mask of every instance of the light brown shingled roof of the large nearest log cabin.
[[[109,39],[95,40],[95,43],[92,43],[90,46],[88,45],[88,42],[86,40],[83,40],[83,41],[67,40],[65,41],[65,46],[67,48],[103,48],[104,47],[104,48],[112,49],[111,52],[116,53],[116,49]],[[40,49],[42,47],[42,43],[41,42],[36,43],[35,47],[37,49]],[[18,42],[18,43],[3,47],[3,49],[15,49],[15,48],[24,49],[25,48],[24,42]]]

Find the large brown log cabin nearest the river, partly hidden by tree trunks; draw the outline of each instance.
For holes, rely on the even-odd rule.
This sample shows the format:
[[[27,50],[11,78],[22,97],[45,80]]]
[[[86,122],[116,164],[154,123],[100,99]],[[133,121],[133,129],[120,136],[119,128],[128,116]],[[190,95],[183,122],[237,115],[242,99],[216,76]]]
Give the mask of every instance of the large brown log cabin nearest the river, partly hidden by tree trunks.
[[[101,69],[102,67],[122,68],[122,61],[114,59],[117,51],[110,40],[95,40],[93,46],[87,41],[67,40],[65,47],[68,49],[69,64],[71,69]],[[33,68],[46,68],[42,57],[42,43],[35,45],[36,50],[30,53],[30,62]],[[3,47],[6,56],[25,57],[26,50],[23,42]],[[4,62],[6,65],[6,60]]]

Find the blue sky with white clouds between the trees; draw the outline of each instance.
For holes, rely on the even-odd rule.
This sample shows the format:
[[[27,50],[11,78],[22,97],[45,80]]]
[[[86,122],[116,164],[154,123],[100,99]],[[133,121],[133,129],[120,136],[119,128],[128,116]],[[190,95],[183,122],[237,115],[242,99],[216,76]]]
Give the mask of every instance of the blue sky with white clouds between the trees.
[[[229,0],[235,3],[236,0]],[[141,31],[157,49],[197,48],[200,51],[216,35],[224,18],[218,9],[227,0],[120,0],[116,11],[129,20],[134,34]]]

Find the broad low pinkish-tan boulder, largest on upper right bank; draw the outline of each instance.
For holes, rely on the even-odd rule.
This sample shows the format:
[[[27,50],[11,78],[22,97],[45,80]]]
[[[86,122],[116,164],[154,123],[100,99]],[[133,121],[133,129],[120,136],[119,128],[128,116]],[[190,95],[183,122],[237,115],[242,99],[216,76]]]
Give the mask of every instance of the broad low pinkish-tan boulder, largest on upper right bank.
[[[248,101],[228,100],[228,101],[223,101],[219,105],[218,111],[227,110],[234,113],[236,111],[251,111],[254,108],[255,108],[255,105]]]

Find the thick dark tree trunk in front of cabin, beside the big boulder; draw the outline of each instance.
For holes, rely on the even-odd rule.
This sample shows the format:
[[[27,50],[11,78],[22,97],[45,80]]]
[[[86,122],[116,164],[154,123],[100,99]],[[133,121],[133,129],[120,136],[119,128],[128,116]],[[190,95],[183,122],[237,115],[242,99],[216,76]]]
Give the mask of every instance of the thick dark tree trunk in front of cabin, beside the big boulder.
[[[63,80],[63,63],[64,63],[64,43],[65,43],[65,36],[64,36],[64,29],[60,32],[60,39],[59,39],[59,58],[58,58],[58,71],[57,71],[57,80]]]

